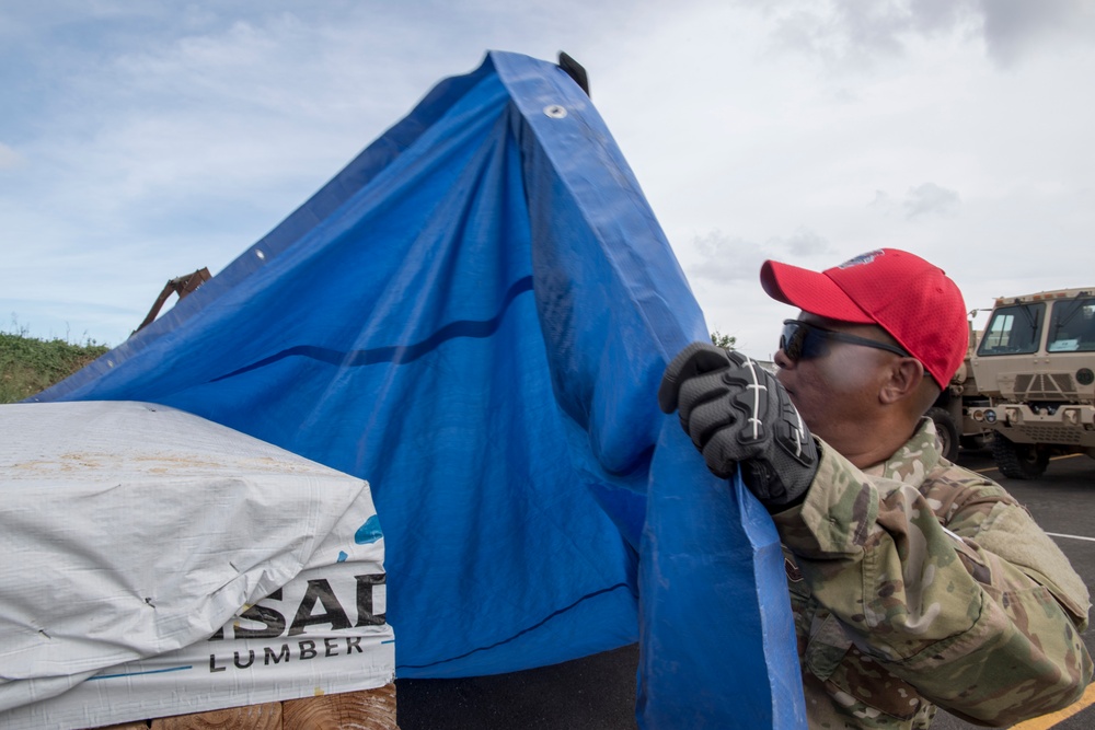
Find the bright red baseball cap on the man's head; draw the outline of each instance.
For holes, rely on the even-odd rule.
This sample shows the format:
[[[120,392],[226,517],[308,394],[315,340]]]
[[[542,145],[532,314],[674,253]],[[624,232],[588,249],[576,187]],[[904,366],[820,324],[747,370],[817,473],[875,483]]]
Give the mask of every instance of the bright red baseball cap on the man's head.
[[[940,387],[966,359],[966,302],[946,273],[920,256],[878,248],[820,274],[768,260],[760,282],[772,299],[841,322],[877,324],[924,364]]]

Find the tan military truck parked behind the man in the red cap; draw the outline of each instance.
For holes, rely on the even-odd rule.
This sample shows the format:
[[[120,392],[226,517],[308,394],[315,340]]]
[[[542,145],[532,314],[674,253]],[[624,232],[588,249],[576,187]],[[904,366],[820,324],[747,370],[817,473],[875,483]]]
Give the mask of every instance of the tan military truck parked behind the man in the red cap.
[[[968,415],[992,431],[1004,476],[1036,477],[1054,454],[1095,457],[1095,287],[998,299],[969,362],[990,402]]]

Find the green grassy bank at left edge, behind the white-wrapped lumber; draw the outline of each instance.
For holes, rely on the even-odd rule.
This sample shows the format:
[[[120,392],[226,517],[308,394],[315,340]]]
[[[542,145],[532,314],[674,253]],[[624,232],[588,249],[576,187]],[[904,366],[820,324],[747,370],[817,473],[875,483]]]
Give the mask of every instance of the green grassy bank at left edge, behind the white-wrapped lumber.
[[[0,332],[0,403],[16,403],[84,367],[110,347]]]

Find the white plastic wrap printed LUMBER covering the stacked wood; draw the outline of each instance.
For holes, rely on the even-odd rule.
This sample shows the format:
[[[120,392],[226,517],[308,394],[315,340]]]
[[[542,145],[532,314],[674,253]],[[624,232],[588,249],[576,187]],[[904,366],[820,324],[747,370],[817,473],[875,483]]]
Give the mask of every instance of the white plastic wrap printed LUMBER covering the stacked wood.
[[[367,482],[181,410],[0,406],[0,727],[394,677]]]

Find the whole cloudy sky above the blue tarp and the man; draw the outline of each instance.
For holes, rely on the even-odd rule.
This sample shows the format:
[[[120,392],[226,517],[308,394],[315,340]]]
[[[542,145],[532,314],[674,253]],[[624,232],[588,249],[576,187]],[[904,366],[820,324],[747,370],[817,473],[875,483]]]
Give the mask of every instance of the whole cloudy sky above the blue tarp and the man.
[[[1090,0],[0,2],[0,331],[117,345],[488,49],[589,71],[708,327],[880,246],[970,309],[1095,285]]]

